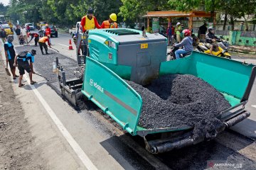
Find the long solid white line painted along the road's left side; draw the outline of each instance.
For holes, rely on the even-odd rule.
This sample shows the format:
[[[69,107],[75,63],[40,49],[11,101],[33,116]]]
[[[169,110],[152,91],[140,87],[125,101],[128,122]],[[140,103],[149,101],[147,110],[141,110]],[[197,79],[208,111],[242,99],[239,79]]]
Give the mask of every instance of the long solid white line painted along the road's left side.
[[[26,81],[30,82],[28,77],[26,76],[26,74],[24,74],[24,78],[26,79]],[[90,161],[89,157],[87,157],[87,154],[85,154],[85,152],[83,152],[82,148],[74,140],[72,135],[70,135],[70,133],[65,128],[63,123],[60,122],[60,120],[58,119],[57,115],[55,115],[53,110],[50,108],[48,103],[43,99],[43,97],[38,92],[38,90],[35,88],[35,86],[33,86],[33,85],[30,85],[30,86],[31,86],[31,89],[34,92],[34,94],[36,94],[38,100],[42,103],[42,106],[46,109],[48,115],[50,115],[50,118],[53,119],[53,122],[58,127],[58,129],[63,134],[63,136],[65,137],[65,140],[67,140],[69,145],[74,149],[75,153],[78,155],[78,157],[82,161],[82,164],[84,164],[87,169],[95,169],[95,170],[97,170],[97,167]]]

